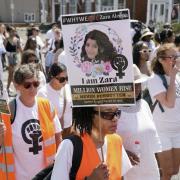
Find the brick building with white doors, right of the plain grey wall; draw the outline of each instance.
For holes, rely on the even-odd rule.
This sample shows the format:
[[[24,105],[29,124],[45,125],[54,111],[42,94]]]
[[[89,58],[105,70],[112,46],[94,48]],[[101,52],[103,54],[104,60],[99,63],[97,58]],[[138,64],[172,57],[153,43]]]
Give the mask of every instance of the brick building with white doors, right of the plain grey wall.
[[[180,0],[52,0],[52,21],[60,20],[62,14],[107,11],[128,8],[131,19],[146,24],[173,22],[180,17]],[[175,9],[174,11],[173,8]]]

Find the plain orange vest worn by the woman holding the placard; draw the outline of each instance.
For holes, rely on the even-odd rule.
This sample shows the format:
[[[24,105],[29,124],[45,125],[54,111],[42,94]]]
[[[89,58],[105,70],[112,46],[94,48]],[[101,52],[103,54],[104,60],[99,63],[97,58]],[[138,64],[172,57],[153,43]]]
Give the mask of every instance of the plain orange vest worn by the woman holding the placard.
[[[83,155],[79,170],[76,175],[76,180],[83,180],[89,176],[92,171],[101,163],[99,154],[88,134],[84,134]],[[109,180],[121,180],[122,169],[122,140],[117,134],[107,135],[107,154],[105,163],[108,166],[110,176]]]

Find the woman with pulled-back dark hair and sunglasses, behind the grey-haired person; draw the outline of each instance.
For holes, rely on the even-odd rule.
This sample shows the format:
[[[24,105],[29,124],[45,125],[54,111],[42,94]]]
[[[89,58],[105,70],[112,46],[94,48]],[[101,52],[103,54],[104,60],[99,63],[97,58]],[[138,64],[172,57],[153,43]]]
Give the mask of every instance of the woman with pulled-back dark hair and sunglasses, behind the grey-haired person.
[[[66,66],[54,63],[50,68],[50,82],[38,91],[38,96],[47,98],[56,108],[63,135],[70,131],[72,125],[72,99],[67,81]]]

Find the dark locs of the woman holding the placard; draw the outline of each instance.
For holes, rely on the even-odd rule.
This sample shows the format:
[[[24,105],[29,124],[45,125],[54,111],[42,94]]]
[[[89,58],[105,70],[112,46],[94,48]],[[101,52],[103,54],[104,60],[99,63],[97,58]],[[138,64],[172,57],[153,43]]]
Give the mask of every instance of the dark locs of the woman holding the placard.
[[[80,134],[91,134],[94,118],[94,107],[73,107],[73,125]]]

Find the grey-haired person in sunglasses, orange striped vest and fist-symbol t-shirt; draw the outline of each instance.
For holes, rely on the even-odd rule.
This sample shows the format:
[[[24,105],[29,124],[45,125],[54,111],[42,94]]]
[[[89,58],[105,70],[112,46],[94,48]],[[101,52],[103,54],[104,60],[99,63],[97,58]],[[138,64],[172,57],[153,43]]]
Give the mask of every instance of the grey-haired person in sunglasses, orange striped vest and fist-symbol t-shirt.
[[[0,142],[5,137],[4,147],[9,148],[9,151],[6,150],[8,156],[0,151],[0,177],[7,173],[3,169],[4,156],[6,163],[11,163],[6,164],[7,167],[12,167],[9,169],[10,173],[7,173],[8,179],[13,180],[30,180],[48,164],[53,163],[62,129],[54,107],[48,100],[36,97],[40,84],[38,74],[35,65],[31,63],[22,65],[15,71],[14,85],[19,96],[15,101],[16,108],[15,112],[12,112],[14,117],[11,124],[4,121],[9,136],[6,136],[6,133],[2,136],[0,133]],[[12,178],[12,175],[15,178]]]

